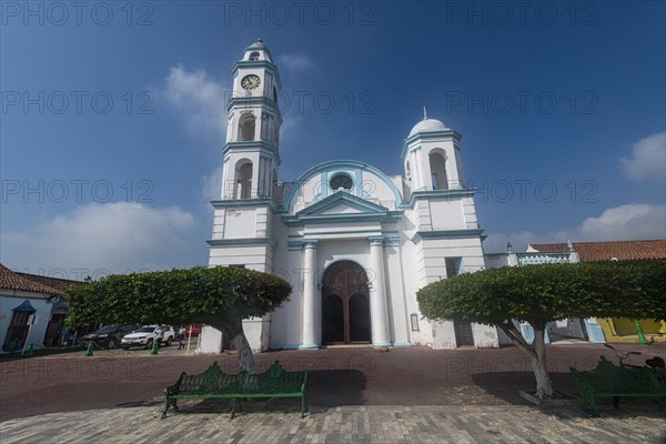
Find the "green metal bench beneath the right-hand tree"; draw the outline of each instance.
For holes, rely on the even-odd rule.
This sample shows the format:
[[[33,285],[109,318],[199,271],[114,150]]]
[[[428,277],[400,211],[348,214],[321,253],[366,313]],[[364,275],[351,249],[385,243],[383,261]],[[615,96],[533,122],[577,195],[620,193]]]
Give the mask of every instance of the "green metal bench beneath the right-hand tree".
[[[602,356],[591,372],[569,367],[581,392],[581,407],[592,407],[598,416],[595,397],[613,397],[617,407],[620,397],[659,397],[659,408],[666,400],[666,372],[663,369],[617,366]]]

